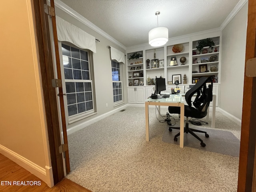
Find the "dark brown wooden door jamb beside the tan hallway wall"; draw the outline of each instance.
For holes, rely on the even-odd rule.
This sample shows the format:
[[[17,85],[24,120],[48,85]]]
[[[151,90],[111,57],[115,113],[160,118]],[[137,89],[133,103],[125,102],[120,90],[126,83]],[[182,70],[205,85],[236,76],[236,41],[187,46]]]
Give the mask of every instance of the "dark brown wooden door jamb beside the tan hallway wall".
[[[52,59],[48,15],[44,12],[44,4],[47,4],[47,0],[32,0],[32,9],[34,9],[35,17],[34,21],[36,38],[38,42],[38,55],[42,76],[42,88],[44,94],[50,156],[55,185],[60,182],[65,175],[62,154],[59,153],[59,146],[61,146],[62,143],[56,90],[52,86],[52,79],[54,79],[54,62]]]

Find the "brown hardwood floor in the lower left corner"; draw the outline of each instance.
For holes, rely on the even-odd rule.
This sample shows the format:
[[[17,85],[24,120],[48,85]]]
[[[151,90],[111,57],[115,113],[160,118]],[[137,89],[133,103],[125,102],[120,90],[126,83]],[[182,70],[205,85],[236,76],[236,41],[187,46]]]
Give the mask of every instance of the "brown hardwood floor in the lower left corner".
[[[27,185],[17,185],[16,181]],[[34,182],[34,183],[33,183]],[[40,185],[36,185],[40,183]],[[15,185],[14,185],[15,184]],[[20,183],[22,184],[22,183]],[[30,185],[31,184],[31,185]],[[35,185],[32,185],[35,184]],[[0,154],[0,192],[91,192],[82,186],[64,178],[50,188],[45,182],[34,176],[6,156]]]

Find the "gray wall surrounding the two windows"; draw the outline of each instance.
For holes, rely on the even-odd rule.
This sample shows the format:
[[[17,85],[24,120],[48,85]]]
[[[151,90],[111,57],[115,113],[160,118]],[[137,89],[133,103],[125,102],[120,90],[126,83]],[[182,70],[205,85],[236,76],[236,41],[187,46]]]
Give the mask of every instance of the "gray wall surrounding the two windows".
[[[112,90],[112,69],[111,69],[111,58],[110,50],[108,46],[114,47],[125,54],[125,50],[120,48],[120,46],[114,44],[112,41],[108,40],[98,32],[92,30],[90,27],[86,26],[82,22],[78,21],[76,18],[70,16],[60,8],[56,7],[56,15],[60,18],[70,22],[71,24],[77,26],[78,28],[84,30],[88,34],[95,36],[100,42],[96,42],[96,53],[93,53],[93,66],[94,66],[94,80],[95,80],[95,94],[96,94],[96,109],[97,114],[80,120],[78,122],[69,124],[67,128],[71,128],[75,125],[86,122],[92,118],[105,114],[118,108],[124,104],[127,104],[127,89],[126,89],[126,67],[123,64],[123,98],[124,104],[114,107],[113,102],[113,90]],[[108,107],[106,107],[108,103]]]

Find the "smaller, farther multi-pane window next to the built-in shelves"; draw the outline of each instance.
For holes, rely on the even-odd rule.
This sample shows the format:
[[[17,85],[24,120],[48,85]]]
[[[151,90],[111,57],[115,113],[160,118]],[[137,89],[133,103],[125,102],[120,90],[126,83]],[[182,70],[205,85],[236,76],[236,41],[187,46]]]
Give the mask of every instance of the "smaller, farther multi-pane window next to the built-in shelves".
[[[123,101],[122,99],[122,68],[120,63],[112,61],[112,84],[114,104]]]

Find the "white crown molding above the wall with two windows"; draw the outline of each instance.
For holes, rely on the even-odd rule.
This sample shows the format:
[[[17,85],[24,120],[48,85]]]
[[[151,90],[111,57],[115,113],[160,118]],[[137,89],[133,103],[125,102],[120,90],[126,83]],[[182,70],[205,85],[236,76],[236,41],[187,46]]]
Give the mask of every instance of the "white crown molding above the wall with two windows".
[[[104,32],[103,30],[101,30],[100,28],[98,28],[96,25],[94,25],[92,22],[90,22],[89,20],[87,20],[86,18],[84,18],[82,15],[80,15],[78,12],[76,12],[75,10],[73,10],[72,8],[70,8],[69,6],[67,6],[66,4],[64,4],[63,2],[61,2],[60,0],[55,0],[54,1],[54,5],[57,6],[58,8],[60,8],[61,10],[63,10],[64,12],[66,12],[67,14],[69,14],[70,16],[76,18],[78,21],[82,22],[83,24],[85,24],[86,26],[90,27],[92,30],[96,31],[97,33],[99,33],[100,35],[104,36],[105,38],[107,38],[108,40],[112,41],[114,44],[120,46],[121,48],[123,48],[124,50],[126,50],[126,46],[124,46],[123,44],[121,44],[120,42],[118,42],[116,39],[114,39],[112,36],[110,36],[109,34],[107,34],[106,32]]]

